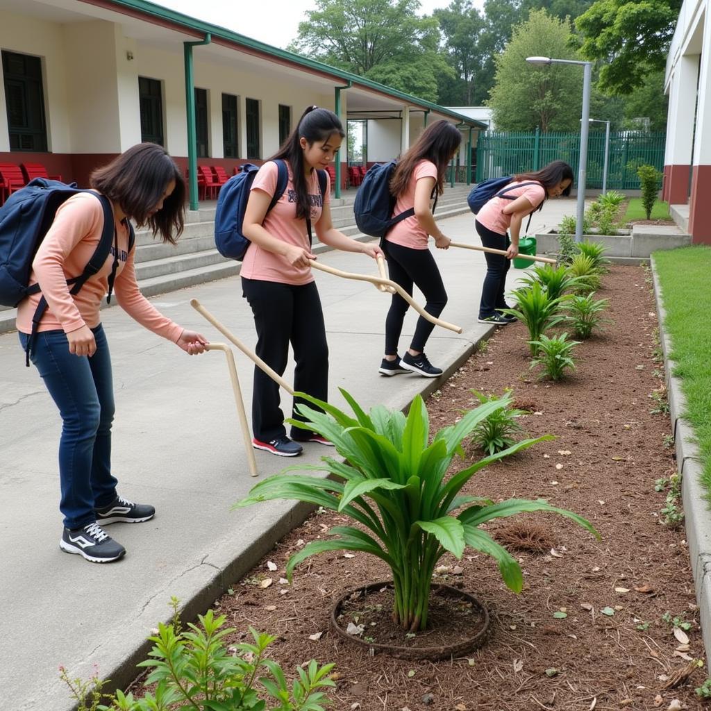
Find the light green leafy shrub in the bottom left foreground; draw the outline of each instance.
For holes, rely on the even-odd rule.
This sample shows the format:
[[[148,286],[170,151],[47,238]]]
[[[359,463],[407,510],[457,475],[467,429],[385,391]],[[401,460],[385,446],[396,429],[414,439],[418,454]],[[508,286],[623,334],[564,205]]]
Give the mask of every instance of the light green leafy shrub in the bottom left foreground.
[[[193,711],[264,711],[267,702],[258,691],[277,702],[270,711],[323,711],[330,703],[322,690],[335,686],[328,678],[333,664],[319,666],[312,659],[306,669],[296,668],[299,678],[289,686],[279,664],[265,657],[276,637],[250,627],[253,643],[227,648],[225,637],[235,629],[224,626],[225,615],[208,610],[198,619],[200,626],[188,624],[190,631],[161,623],[149,637],[151,659],[138,666],[153,669],[145,683],[156,684],[154,693],[139,699],[117,690],[112,705],[99,711],[169,711],[176,704]],[[260,672],[268,676],[257,678]]]

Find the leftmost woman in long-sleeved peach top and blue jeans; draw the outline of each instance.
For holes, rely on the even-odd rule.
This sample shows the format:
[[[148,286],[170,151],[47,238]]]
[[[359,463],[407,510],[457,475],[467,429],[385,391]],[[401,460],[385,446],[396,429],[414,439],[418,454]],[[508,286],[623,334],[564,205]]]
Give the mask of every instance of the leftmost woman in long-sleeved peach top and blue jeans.
[[[111,471],[114,393],[109,348],[100,321],[101,300],[113,289],[124,311],[141,326],[190,355],[202,353],[208,342],[160,314],[136,283],[129,220],[148,225],[164,242],[175,243],[183,230],[185,201],[178,166],[161,146],[139,144],[94,171],[90,184],[94,191],[77,192],[56,210],[32,262],[30,284],[39,284],[41,293],[27,296],[18,305],[17,329],[22,348],[28,351],[63,421],[60,548],[103,563],[118,560],[126,550],[102,525],[147,521],[155,509],[128,501],[116,491],[118,482]],[[98,272],[79,290],[73,289],[67,280],[82,274],[94,255],[106,215],[112,223],[111,253]],[[41,299],[48,308],[36,316]],[[33,324],[33,319],[38,321]]]

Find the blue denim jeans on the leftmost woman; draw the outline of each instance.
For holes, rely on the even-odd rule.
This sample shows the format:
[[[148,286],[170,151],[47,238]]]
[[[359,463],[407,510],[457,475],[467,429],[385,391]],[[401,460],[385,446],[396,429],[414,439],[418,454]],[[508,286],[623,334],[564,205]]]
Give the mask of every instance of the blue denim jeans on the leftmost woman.
[[[69,352],[64,331],[35,336],[31,360],[62,416],[59,442],[60,511],[66,528],[96,520],[95,508],[116,497],[111,474],[111,424],[114,388],[109,344],[102,326],[92,328],[96,353],[88,358]],[[23,349],[28,336],[20,333]]]

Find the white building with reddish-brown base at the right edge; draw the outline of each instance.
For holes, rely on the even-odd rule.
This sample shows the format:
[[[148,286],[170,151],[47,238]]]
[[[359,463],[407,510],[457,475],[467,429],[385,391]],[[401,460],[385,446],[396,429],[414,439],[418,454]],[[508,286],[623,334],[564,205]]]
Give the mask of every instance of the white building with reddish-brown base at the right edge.
[[[695,244],[711,245],[711,0],[685,0],[669,50],[662,197]]]

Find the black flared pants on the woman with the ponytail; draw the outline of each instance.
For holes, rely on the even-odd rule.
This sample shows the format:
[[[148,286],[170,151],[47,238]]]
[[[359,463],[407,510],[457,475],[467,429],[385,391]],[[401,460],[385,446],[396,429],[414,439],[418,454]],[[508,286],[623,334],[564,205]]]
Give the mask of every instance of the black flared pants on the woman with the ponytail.
[[[294,287],[292,284],[242,277],[242,292],[255,316],[257,355],[279,375],[283,375],[291,343],[296,362],[294,390],[308,392],[319,400],[326,400],[328,344],[316,283]],[[292,417],[304,420],[295,410],[299,402],[304,400],[294,399]],[[252,430],[261,442],[269,442],[287,434],[284,413],[279,406],[279,385],[256,367],[252,390]],[[309,432],[292,427],[292,436],[294,434],[304,439]]]

